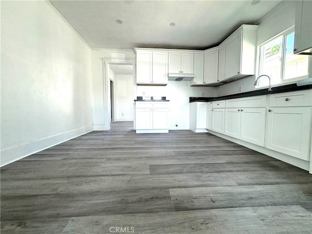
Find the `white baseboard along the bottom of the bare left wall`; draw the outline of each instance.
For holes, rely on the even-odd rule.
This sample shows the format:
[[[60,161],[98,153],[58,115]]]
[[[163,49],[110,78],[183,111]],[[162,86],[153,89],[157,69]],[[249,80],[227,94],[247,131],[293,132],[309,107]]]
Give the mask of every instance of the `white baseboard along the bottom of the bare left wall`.
[[[1,150],[0,166],[15,162],[23,157],[33,155],[39,151],[55,146],[64,141],[84,135],[93,131],[93,125],[77,128],[55,136],[46,137],[36,142],[31,142],[17,147]]]

